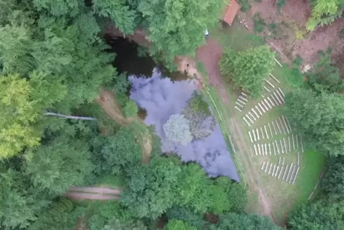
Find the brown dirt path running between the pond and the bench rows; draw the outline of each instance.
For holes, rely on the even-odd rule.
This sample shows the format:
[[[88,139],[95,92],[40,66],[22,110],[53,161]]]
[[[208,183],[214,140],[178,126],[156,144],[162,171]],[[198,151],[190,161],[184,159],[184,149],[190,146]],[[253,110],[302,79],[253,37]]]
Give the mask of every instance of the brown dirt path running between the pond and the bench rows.
[[[218,68],[219,59],[222,55],[222,48],[218,42],[214,41],[213,39],[207,39],[207,44],[201,46],[197,51],[197,58],[198,60],[202,61],[203,64],[206,66],[206,70],[208,72],[208,77],[211,85],[213,85],[216,90],[220,93],[222,97],[223,104],[227,106],[233,106],[233,102],[235,99],[230,98],[230,96],[226,93],[226,89],[223,86],[223,80],[221,78],[220,70]],[[246,145],[246,141],[243,138],[243,131],[241,126],[238,124],[235,118],[231,119],[231,124],[228,124],[231,128],[233,141],[237,146],[237,153],[243,159],[243,163],[246,166],[246,179],[248,182],[248,186],[251,190],[256,191],[259,195],[258,201],[260,204],[260,213],[265,216],[270,216],[273,219],[273,214],[271,211],[270,200],[268,196],[266,196],[263,186],[260,183],[260,176],[258,171],[256,171],[255,167],[251,163],[250,159],[250,150]]]

